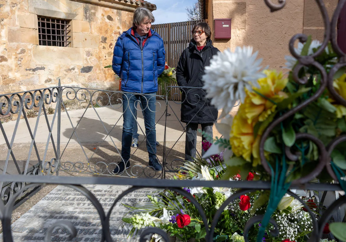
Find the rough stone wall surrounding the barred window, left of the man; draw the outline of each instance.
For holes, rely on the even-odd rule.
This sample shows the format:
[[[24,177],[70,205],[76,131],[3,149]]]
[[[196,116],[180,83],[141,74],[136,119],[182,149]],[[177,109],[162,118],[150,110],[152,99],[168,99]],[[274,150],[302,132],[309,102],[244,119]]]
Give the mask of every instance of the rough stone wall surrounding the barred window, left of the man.
[[[72,47],[38,45],[37,15],[70,19]],[[125,12],[70,0],[0,0],[0,93],[62,85],[118,89],[110,65]]]

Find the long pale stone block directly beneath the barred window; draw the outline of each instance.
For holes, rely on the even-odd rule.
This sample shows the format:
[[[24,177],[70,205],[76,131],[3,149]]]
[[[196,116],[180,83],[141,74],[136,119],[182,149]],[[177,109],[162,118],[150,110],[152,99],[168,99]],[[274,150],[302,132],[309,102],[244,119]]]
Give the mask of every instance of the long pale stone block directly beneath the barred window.
[[[32,50],[36,65],[83,65],[83,49],[35,45]]]

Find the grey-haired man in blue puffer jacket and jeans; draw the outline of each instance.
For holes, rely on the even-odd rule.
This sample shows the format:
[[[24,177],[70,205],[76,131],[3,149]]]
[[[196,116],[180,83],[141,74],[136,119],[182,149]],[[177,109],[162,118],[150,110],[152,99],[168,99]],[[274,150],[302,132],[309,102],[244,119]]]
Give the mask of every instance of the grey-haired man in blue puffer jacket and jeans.
[[[112,68],[121,78],[124,124],[122,128],[121,157],[114,174],[121,174],[130,167],[132,129],[137,112],[137,103],[144,109],[145,134],[149,155],[149,166],[161,171],[156,157],[155,102],[157,76],[165,68],[165,50],[160,35],[151,29],[155,21],[146,8],[137,8],[133,16],[133,27],[123,32],[114,47]],[[137,102],[136,102],[137,101]]]

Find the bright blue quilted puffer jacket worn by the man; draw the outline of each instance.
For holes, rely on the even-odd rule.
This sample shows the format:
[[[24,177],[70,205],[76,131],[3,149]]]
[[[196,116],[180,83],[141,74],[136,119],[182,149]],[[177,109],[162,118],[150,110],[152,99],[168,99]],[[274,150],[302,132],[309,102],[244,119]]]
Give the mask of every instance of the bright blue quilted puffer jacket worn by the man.
[[[121,91],[157,92],[157,76],[164,71],[166,63],[163,40],[151,29],[143,41],[142,50],[134,31],[130,28],[117,39],[113,52],[113,71],[121,78]]]

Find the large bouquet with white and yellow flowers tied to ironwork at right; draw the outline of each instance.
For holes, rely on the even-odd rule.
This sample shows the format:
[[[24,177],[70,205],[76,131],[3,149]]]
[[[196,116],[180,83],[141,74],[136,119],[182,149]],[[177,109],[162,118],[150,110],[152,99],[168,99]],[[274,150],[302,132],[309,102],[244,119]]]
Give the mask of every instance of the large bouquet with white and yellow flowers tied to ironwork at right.
[[[223,118],[216,124],[223,138],[216,140],[205,155],[225,148],[233,152],[225,159],[225,179],[239,170],[255,170],[261,180],[271,181],[270,194],[262,192],[257,199],[267,201],[257,242],[268,233],[270,219],[292,183],[304,184],[314,178],[331,182],[329,174],[334,171],[346,191],[346,143],[333,147],[330,164],[326,150],[346,132],[346,107],[342,105],[346,99],[346,69],[335,72],[339,57],[331,43],[322,47],[311,36],[294,51],[297,57],[319,55],[309,65],[286,56],[286,78],[268,68],[260,71],[262,60],[257,59],[257,52],[253,54],[251,47],[237,47],[235,52],[226,50],[214,56],[203,76],[207,97],[222,109]],[[333,82],[327,89],[328,75]],[[237,100],[241,102],[239,110],[230,117]],[[329,229],[336,238],[346,241],[345,223],[332,223]]]

